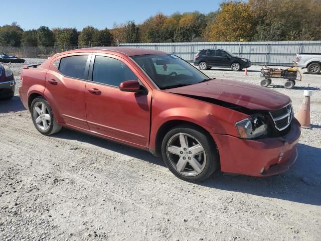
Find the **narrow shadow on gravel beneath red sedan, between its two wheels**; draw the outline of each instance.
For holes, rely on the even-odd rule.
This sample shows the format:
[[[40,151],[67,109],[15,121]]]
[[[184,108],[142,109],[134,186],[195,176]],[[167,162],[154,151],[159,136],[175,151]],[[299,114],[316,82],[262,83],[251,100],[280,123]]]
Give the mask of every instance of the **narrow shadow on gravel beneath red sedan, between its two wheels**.
[[[123,144],[118,144],[113,141],[105,140],[99,137],[90,136],[85,133],[77,132],[74,130],[69,130],[63,128],[61,132],[53,135],[55,138],[60,138],[64,140],[76,140],[78,142],[89,143],[91,145],[95,145],[97,147],[101,147],[113,152],[120,153],[122,155],[130,156],[133,158],[141,159],[144,161],[148,161],[150,163],[159,165],[159,166],[166,166],[165,163],[161,158],[153,156],[148,151],[136,149],[133,147],[125,146]]]

